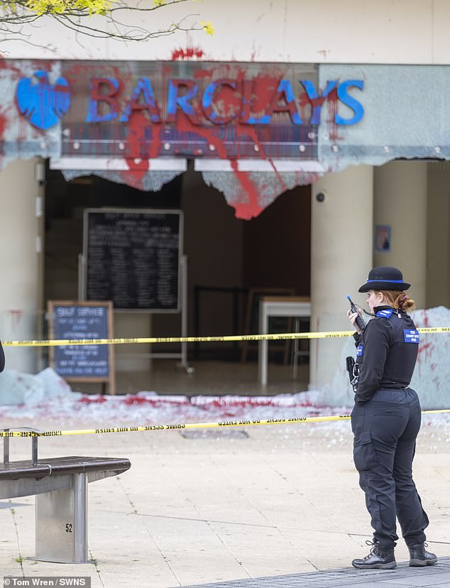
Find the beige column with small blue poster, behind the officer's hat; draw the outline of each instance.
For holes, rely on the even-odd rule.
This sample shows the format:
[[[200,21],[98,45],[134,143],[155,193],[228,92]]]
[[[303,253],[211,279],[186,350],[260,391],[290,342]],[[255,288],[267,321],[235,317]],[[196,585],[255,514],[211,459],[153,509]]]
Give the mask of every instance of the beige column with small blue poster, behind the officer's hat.
[[[427,261],[427,163],[392,161],[375,168],[373,223],[390,227],[390,249],[375,251],[374,266],[400,268],[416,308],[424,308]]]

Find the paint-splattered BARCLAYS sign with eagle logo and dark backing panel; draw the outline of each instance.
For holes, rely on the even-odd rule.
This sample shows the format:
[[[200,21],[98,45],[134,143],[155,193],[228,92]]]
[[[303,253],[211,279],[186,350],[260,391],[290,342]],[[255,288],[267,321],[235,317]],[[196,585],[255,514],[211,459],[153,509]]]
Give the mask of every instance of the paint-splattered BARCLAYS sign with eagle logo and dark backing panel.
[[[15,102],[31,132],[60,128],[61,156],[317,160],[319,128],[339,138],[364,117],[363,79],[318,78],[301,64],[61,61],[21,76]]]

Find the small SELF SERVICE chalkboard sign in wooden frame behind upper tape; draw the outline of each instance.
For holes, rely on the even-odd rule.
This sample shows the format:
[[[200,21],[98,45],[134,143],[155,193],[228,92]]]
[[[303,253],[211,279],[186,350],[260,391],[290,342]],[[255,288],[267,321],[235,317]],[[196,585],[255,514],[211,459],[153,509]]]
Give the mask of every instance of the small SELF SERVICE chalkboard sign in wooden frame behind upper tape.
[[[49,300],[50,339],[112,339],[111,301]],[[109,383],[114,389],[113,345],[50,347],[50,366],[67,381]]]

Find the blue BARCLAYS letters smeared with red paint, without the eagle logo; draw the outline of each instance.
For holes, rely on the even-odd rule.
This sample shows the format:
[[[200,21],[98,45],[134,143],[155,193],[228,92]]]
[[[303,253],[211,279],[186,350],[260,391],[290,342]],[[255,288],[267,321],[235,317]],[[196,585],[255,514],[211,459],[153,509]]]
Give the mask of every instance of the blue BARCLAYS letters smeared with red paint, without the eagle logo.
[[[131,99],[126,103],[123,114],[119,116],[119,89],[120,84],[114,78],[92,78],[91,94],[89,97],[89,107],[87,122],[108,122],[117,119],[119,122],[128,123],[135,111],[147,111],[148,119],[154,124],[171,123],[177,121],[177,112],[180,110],[187,116],[195,126],[202,126],[200,117],[204,117],[214,125],[225,126],[232,123],[238,116],[241,124],[248,125],[270,125],[272,124],[273,114],[285,112],[289,115],[293,125],[318,125],[320,124],[322,107],[326,99],[335,99],[341,102],[353,111],[353,116],[344,119],[337,112],[334,114],[334,123],[337,125],[350,126],[358,123],[363,118],[364,109],[361,102],[354,98],[349,92],[352,88],[363,90],[363,80],[346,80],[339,83],[338,80],[329,80],[322,91],[317,91],[311,80],[300,80],[300,85],[304,89],[304,99],[300,97],[300,104],[303,106],[309,102],[312,107],[312,113],[309,121],[302,121],[297,110],[296,96],[290,80],[282,79],[278,82],[277,89],[273,94],[268,94],[267,106],[260,116],[252,114],[252,97],[253,97],[253,80],[235,80],[221,78],[214,80],[204,89],[202,95],[199,95],[199,87],[194,80],[187,79],[170,79],[168,80],[168,94],[166,104],[165,120],[161,118],[161,111],[158,100],[155,97],[150,80],[146,77],[140,77]],[[240,114],[237,111],[229,110],[223,116],[217,114],[214,109],[214,101],[221,90],[229,88],[231,90],[228,97],[221,94],[222,110],[227,105],[227,99],[236,94],[241,101]],[[239,96],[240,94],[240,96]],[[262,99],[262,97],[259,97]],[[307,102],[305,102],[305,99]],[[197,100],[201,105],[200,110],[193,101]],[[100,104],[104,103],[103,109],[109,111],[100,114]]]

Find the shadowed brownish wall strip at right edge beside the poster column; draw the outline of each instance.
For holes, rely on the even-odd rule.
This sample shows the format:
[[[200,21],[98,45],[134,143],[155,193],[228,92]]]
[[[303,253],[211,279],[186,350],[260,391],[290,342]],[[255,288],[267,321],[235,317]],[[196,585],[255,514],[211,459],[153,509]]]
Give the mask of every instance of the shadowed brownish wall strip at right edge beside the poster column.
[[[428,164],[427,307],[450,308],[450,163]]]

